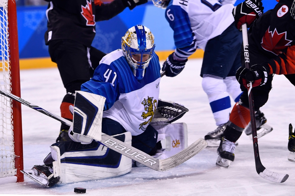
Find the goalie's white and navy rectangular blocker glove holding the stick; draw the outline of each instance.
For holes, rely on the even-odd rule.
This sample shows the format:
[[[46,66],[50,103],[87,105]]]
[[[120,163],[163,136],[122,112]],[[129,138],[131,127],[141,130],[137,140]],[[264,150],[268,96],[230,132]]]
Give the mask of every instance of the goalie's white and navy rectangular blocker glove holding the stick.
[[[76,91],[73,125],[69,136],[75,142],[90,144],[101,140],[101,121],[106,98],[97,94]]]

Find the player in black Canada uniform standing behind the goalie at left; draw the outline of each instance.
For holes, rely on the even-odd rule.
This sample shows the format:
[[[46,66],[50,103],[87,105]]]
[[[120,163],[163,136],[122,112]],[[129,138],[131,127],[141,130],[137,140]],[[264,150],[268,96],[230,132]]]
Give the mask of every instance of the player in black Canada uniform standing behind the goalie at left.
[[[95,36],[96,21],[109,20],[126,7],[147,0],[114,0],[104,4],[100,0],[45,0],[47,31],[45,44],[51,60],[57,63],[67,94],[60,105],[61,116],[73,119],[69,106],[74,105],[75,91],[89,81],[95,68],[106,54],[91,46]],[[56,142],[70,140],[67,125],[62,124]]]

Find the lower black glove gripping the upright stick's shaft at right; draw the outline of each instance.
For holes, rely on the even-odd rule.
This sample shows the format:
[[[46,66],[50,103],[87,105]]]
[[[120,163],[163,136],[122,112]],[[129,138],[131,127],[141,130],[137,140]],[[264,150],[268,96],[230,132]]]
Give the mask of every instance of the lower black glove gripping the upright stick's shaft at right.
[[[251,69],[240,67],[237,70],[237,81],[247,88],[248,81],[252,82],[252,87],[262,86],[267,82],[267,76],[269,73],[268,66],[253,65]]]

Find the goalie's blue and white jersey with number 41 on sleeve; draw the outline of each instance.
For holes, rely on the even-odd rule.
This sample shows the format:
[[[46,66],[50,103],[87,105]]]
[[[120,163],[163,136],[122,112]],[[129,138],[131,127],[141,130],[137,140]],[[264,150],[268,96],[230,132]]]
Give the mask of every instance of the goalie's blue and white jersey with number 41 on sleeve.
[[[103,117],[119,122],[132,135],[153,119],[160,91],[160,63],[154,53],[143,79],[137,80],[121,49],[104,56],[82,91],[106,97]]]

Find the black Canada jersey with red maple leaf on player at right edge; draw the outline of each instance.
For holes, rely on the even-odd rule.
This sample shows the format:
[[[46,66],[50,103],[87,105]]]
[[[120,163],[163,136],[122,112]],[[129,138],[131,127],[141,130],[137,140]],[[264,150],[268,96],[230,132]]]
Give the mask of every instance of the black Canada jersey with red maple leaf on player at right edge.
[[[280,0],[254,22],[248,33],[251,65],[266,63],[269,74],[295,73],[295,20],[290,14],[292,3]]]

